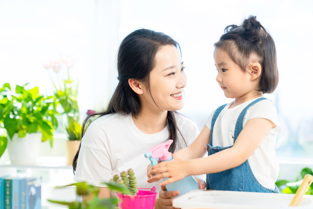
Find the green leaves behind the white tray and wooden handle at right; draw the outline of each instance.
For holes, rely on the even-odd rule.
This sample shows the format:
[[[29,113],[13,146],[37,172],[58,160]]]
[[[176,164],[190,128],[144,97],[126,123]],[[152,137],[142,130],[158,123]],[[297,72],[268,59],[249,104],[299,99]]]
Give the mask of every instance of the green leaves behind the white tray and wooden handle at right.
[[[275,184],[279,188],[280,193],[295,194],[301,185],[304,176],[307,174],[313,175],[313,172],[310,168],[304,168],[301,170],[299,177],[295,181],[278,180],[275,182]],[[313,195],[313,183],[310,185],[308,191],[306,191],[305,194]]]

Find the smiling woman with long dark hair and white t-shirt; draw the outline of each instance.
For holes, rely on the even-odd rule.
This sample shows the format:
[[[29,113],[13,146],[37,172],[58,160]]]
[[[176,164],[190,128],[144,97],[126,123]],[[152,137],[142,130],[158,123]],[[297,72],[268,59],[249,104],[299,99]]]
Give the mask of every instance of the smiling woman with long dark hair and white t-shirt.
[[[88,116],[74,161],[75,181],[87,181],[109,196],[101,182],[132,168],[138,188],[161,188],[147,183],[144,153],[156,144],[173,139],[170,152],[191,144],[198,136],[195,123],[175,112],[183,107],[187,77],[180,48],[170,36],[138,29],[121,42],[117,57],[119,83],[106,111]],[[93,121],[84,135],[84,127]],[[83,136],[84,135],[84,136]],[[204,182],[201,187],[204,188]],[[156,208],[172,207],[177,191],[160,190]]]

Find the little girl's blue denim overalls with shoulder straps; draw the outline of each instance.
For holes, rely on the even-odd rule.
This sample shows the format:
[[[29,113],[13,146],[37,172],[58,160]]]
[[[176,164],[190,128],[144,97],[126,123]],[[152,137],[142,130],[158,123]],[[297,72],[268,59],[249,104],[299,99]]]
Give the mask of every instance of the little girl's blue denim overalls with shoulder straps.
[[[240,113],[234,133],[234,143],[243,128],[244,116],[249,109],[249,107],[253,106],[255,103],[262,101],[266,98],[259,98],[253,102],[251,102],[244,110]],[[217,108],[215,111],[212,123],[211,123],[211,135],[210,135],[210,144],[208,144],[208,155],[217,153],[224,149],[231,148],[229,147],[212,147],[213,140],[213,128],[214,123],[223,110],[223,108],[227,104],[224,104]],[[275,190],[270,190],[262,186],[258,180],[254,177],[248,159],[241,165],[229,169],[224,170],[222,172],[207,174],[207,190],[227,190],[227,191],[249,191],[249,192],[267,192],[267,193],[278,193],[278,188],[275,185]]]

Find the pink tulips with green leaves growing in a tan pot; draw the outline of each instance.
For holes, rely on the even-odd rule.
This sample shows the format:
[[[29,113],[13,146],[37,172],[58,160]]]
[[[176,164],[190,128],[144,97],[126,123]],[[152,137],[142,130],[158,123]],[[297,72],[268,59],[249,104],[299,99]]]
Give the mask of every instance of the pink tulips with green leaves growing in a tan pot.
[[[54,84],[54,98],[63,108],[61,131],[67,134],[66,157],[67,164],[72,165],[74,156],[80,145],[80,114],[77,103],[78,83],[74,85],[74,80],[70,78],[70,69],[73,67],[73,58],[69,55],[61,56],[61,59],[44,63],[44,68],[56,73],[56,77],[50,75]],[[52,70],[51,70],[52,68]],[[61,71],[65,69],[64,71]],[[48,71],[49,72],[49,71]],[[60,75],[60,73],[62,73]]]

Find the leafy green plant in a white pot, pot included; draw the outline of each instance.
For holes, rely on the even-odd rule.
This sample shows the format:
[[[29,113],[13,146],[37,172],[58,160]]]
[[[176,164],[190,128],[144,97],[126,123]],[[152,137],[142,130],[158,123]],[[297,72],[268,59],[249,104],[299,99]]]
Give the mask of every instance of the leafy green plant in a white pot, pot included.
[[[12,164],[35,164],[41,141],[50,140],[52,147],[52,133],[58,126],[53,96],[40,95],[38,87],[26,90],[27,85],[16,85],[13,92],[5,83],[0,89],[0,128],[10,138],[0,138],[0,154],[8,147]]]

